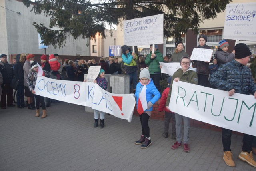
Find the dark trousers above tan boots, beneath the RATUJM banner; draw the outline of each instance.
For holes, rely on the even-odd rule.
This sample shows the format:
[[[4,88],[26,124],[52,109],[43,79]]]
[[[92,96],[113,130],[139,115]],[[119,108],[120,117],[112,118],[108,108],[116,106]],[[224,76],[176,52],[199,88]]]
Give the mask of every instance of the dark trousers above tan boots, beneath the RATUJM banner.
[[[231,135],[232,135],[232,130],[222,128],[223,151],[231,151],[231,149],[230,149]],[[244,133],[242,151],[247,152],[247,153],[250,153],[252,151],[253,139],[254,139],[254,136]]]

